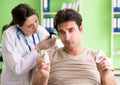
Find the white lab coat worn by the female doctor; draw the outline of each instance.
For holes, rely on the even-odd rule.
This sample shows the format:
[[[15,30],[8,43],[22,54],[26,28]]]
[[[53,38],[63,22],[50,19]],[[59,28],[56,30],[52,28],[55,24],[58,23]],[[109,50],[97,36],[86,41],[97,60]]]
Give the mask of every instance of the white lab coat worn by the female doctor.
[[[17,27],[11,26],[3,33],[1,85],[30,85],[30,70],[36,65],[36,58],[39,57],[32,36],[26,37],[32,49],[30,52],[25,42],[25,36],[16,31]],[[41,26],[38,26],[37,32],[40,40],[49,36],[47,30]],[[20,39],[18,39],[17,35],[19,35]],[[38,43],[39,39],[36,33],[34,37],[35,42]]]

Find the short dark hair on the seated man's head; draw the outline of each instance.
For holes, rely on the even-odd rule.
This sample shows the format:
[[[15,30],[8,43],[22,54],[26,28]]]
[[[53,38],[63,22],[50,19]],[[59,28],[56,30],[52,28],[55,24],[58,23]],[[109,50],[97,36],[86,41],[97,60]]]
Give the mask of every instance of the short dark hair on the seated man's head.
[[[62,9],[55,15],[54,28],[57,30],[59,24],[67,21],[75,21],[78,26],[81,26],[82,16],[73,9]]]

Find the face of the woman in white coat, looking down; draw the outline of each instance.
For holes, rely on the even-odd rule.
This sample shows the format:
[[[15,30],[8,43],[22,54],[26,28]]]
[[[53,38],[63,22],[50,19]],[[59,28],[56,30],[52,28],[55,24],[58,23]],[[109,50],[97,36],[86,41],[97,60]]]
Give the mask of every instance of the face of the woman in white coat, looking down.
[[[37,31],[37,15],[32,15],[26,19],[22,26],[18,26],[26,36],[34,34]]]

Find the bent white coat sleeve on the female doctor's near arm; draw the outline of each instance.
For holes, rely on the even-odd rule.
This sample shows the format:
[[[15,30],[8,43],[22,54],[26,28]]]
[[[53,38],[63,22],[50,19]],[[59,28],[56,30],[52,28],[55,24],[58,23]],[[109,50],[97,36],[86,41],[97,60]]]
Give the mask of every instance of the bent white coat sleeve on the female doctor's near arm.
[[[8,32],[4,32],[2,38],[2,55],[4,64],[17,75],[30,71],[36,65],[36,58],[39,56],[35,49],[24,56],[18,52],[15,46],[16,41]],[[22,49],[21,49],[22,50]]]

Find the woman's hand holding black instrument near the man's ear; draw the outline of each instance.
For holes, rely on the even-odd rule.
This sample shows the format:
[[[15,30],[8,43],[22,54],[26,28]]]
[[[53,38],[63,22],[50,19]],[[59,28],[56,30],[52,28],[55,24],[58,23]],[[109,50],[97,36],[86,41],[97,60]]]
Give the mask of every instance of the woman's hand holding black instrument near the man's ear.
[[[43,49],[48,49],[48,48],[52,47],[52,46],[55,44],[55,42],[56,42],[56,38],[55,38],[55,37],[47,38],[47,39],[45,39],[45,40],[40,41],[40,42],[36,45],[35,49],[36,49],[38,52],[40,52],[40,51],[43,50]]]

